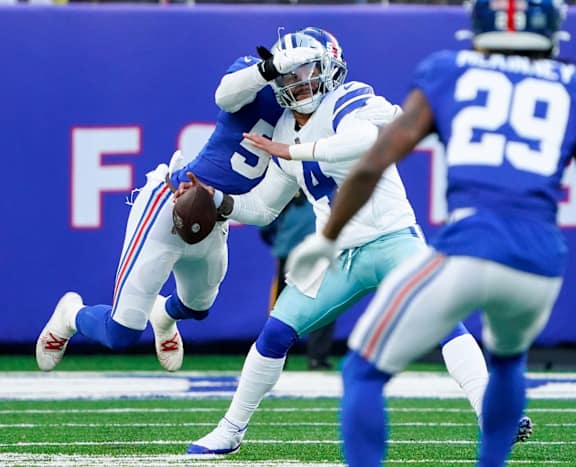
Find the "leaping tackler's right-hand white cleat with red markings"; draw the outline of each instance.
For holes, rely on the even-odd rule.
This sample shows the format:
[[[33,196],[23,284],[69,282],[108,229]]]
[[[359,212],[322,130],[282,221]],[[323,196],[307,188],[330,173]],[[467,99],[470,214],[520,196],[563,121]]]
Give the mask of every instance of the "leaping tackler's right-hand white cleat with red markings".
[[[159,296],[150,314],[150,324],[154,331],[154,346],[162,368],[167,371],[178,371],[184,360],[184,344],[176,326],[176,320],[166,313],[165,303],[166,297]]]

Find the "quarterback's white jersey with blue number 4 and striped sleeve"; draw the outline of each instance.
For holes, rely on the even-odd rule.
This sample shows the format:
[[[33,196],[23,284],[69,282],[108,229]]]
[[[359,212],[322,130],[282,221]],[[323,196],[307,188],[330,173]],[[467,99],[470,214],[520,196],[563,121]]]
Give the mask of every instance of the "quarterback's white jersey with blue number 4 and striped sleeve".
[[[368,101],[371,102],[370,111],[365,112],[365,116],[363,109],[368,107]],[[374,107],[380,107],[379,111]],[[274,141],[286,144],[317,142],[318,157],[315,160],[277,159],[282,172],[271,164],[262,183],[252,192],[234,196],[231,217],[243,223],[266,224],[282,210],[299,186],[314,208],[316,229],[321,230],[330,215],[331,200],[337,189],[376,139],[376,127],[366,120],[387,123],[398,113],[398,106],[375,97],[372,88],[361,82],[349,82],[328,93],[299,130],[296,130],[292,111],[286,109],[276,124]],[[372,127],[371,138],[366,138],[365,132],[355,131],[359,123]],[[343,140],[343,135],[348,138]],[[332,146],[336,141],[337,145]],[[338,238],[338,248],[361,246],[415,223],[404,185],[393,166],[378,182],[372,198],[344,228]]]

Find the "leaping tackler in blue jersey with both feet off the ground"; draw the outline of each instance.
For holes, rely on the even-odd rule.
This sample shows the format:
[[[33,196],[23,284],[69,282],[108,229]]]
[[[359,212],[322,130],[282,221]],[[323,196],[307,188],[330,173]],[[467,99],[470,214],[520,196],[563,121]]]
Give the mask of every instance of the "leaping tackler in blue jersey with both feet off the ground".
[[[216,91],[223,111],[198,156],[183,167],[177,151],[170,166],[160,164],[147,174],[130,210],[112,306],[85,306],[77,293],[65,294],[36,343],[40,369],[54,369],[75,333],[122,350],[137,342],[149,319],[161,365],[169,371],[180,368],[183,346],[176,321],[208,315],[228,266],[228,224],[217,222],[200,243],[186,244],[172,233],[173,196],[165,178],[169,175],[177,186],[187,171],[193,171],[202,182],[231,193],[245,193],[258,184],[270,156],[249,145],[243,134],[257,131],[272,136],[282,109],[268,81],[315,53],[295,49],[266,60],[241,57],[232,65]],[[249,85],[238,86],[247,81]],[[171,273],[176,290],[167,299],[159,297]]]

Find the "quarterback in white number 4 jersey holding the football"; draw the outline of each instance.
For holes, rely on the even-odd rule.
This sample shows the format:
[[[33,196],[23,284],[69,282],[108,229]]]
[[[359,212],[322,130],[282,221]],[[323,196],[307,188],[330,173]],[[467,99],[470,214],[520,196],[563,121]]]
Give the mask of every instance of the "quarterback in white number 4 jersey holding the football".
[[[286,34],[274,54],[294,48],[317,48],[322,55],[278,77],[273,83],[286,108],[273,140],[247,135],[256,147],[278,156],[250,193],[230,198],[230,216],[247,224],[271,222],[301,189],[314,208],[316,224],[326,222],[334,191],[350,168],[376,141],[378,127],[401,109],[365,83],[344,83],[347,71],[338,41],[317,28]],[[185,187],[180,187],[185,190]],[[391,167],[378,181],[378,194],[358,213],[340,239],[338,266],[329,261],[305,277],[291,277],[270,318],[250,349],[232,403],[218,426],[188,447],[194,457],[232,454],[240,448],[248,422],[262,398],[278,381],[291,346],[303,335],[333,322],[356,301],[375,290],[397,265],[425,251],[412,206],[400,176]],[[430,302],[429,307],[433,307]],[[484,357],[462,325],[443,340],[450,371],[480,414],[487,382]]]

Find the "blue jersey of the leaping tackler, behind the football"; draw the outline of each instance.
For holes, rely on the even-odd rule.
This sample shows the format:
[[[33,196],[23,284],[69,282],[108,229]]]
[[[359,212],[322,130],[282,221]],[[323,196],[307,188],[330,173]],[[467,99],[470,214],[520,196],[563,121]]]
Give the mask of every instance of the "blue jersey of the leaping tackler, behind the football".
[[[252,66],[259,60],[241,57],[228,73]],[[193,172],[202,182],[229,194],[250,191],[264,177],[270,156],[244,139],[242,133],[258,133],[272,138],[274,126],[282,115],[274,92],[266,86],[251,103],[238,112],[221,111],[212,136],[200,153],[182,170],[175,172],[175,186],[188,181],[186,172]]]

